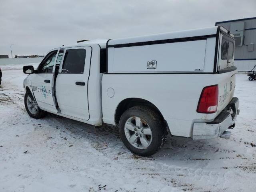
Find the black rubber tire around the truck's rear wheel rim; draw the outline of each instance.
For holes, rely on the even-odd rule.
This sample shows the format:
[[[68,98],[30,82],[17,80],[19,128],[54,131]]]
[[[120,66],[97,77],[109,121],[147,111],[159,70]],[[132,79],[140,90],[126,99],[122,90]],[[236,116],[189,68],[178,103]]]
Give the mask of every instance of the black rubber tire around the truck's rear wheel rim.
[[[151,129],[152,141],[146,149],[139,149],[132,146],[132,144],[130,144],[126,138],[124,125],[129,118],[134,116],[146,121]],[[140,156],[151,156],[164,146],[167,135],[164,124],[165,123],[160,114],[158,114],[158,112],[154,111],[152,108],[148,106],[134,106],[126,110],[120,118],[119,132],[121,140],[132,153]]]

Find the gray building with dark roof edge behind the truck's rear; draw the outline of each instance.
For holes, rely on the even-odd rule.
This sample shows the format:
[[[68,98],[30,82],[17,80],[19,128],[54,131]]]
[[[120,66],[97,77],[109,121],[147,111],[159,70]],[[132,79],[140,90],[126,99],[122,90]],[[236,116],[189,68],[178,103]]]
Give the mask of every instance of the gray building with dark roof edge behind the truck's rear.
[[[250,71],[256,65],[256,17],[216,22],[235,36],[235,65],[238,71]]]

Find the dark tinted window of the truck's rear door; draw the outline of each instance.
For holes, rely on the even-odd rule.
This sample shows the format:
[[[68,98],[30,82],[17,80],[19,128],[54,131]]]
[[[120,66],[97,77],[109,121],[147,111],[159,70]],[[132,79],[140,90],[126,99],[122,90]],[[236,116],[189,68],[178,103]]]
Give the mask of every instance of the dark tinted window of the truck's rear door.
[[[84,73],[84,63],[85,63],[85,49],[68,49],[66,50],[62,73]]]

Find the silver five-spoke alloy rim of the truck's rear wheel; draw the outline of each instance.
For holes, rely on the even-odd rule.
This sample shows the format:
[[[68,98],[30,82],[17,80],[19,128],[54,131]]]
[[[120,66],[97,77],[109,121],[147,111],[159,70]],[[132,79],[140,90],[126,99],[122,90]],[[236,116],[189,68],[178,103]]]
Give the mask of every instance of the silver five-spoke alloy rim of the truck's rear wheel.
[[[152,142],[152,131],[148,123],[137,116],[128,118],[124,125],[128,142],[137,149],[146,149]]]

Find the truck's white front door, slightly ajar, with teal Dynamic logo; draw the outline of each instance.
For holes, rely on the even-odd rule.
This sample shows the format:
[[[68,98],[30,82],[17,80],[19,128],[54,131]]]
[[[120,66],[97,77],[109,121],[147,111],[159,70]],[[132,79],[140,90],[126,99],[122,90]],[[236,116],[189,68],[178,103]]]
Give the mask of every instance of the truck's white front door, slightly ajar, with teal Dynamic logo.
[[[38,66],[37,73],[31,79],[32,92],[42,110],[57,113],[54,97],[54,68],[59,49],[50,51]]]

